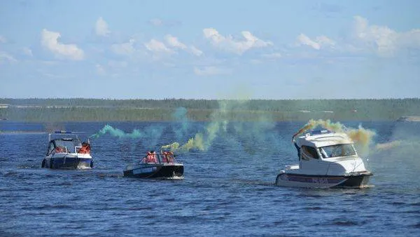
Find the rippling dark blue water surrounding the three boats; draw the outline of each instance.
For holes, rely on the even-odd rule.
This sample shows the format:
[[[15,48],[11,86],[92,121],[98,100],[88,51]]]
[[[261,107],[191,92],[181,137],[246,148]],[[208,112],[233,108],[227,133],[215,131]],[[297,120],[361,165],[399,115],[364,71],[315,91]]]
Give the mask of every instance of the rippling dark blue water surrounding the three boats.
[[[144,136],[91,140],[92,170],[48,170],[48,135],[32,132],[53,126],[0,122],[0,236],[419,236],[420,123],[362,123],[377,135],[366,156],[373,187],[361,190],[274,186],[296,162],[290,137],[303,123],[230,124],[207,151],[179,154],[183,180],[126,178],[123,169],[207,123],[109,124]],[[85,138],[104,125],[59,128]]]

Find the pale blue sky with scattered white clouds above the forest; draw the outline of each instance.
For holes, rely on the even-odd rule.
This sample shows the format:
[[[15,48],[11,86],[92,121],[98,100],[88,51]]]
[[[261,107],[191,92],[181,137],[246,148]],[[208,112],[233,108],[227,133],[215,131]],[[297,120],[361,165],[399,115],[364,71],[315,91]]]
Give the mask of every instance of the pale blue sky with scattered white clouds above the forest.
[[[420,1],[0,1],[1,98],[420,97]]]

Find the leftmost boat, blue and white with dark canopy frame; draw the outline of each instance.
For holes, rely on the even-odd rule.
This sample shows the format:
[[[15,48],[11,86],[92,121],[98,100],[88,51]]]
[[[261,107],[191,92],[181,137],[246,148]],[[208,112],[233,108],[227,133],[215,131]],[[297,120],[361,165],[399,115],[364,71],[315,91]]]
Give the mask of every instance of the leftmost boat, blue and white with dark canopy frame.
[[[92,168],[90,143],[81,142],[78,135],[67,131],[56,131],[48,135],[48,150],[42,168],[84,169]]]

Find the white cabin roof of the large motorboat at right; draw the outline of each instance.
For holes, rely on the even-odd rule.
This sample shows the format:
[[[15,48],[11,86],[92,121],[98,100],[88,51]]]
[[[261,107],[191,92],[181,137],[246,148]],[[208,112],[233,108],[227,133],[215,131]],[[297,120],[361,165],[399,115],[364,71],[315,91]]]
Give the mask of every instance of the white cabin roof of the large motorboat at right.
[[[336,144],[353,144],[346,133],[335,133],[330,130],[315,130],[297,137],[295,143],[298,147],[328,147]]]

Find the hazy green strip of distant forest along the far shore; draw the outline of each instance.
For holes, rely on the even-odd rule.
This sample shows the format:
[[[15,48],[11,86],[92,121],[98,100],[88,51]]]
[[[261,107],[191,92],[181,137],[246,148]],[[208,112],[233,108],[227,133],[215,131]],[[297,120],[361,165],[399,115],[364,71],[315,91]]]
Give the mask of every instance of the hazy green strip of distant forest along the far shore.
[[[420,98],[381,100],[105,100],[0,98],[0,119],[10,121],[174,121],[185,108],[192,121],[397,120],[420,116]]]

